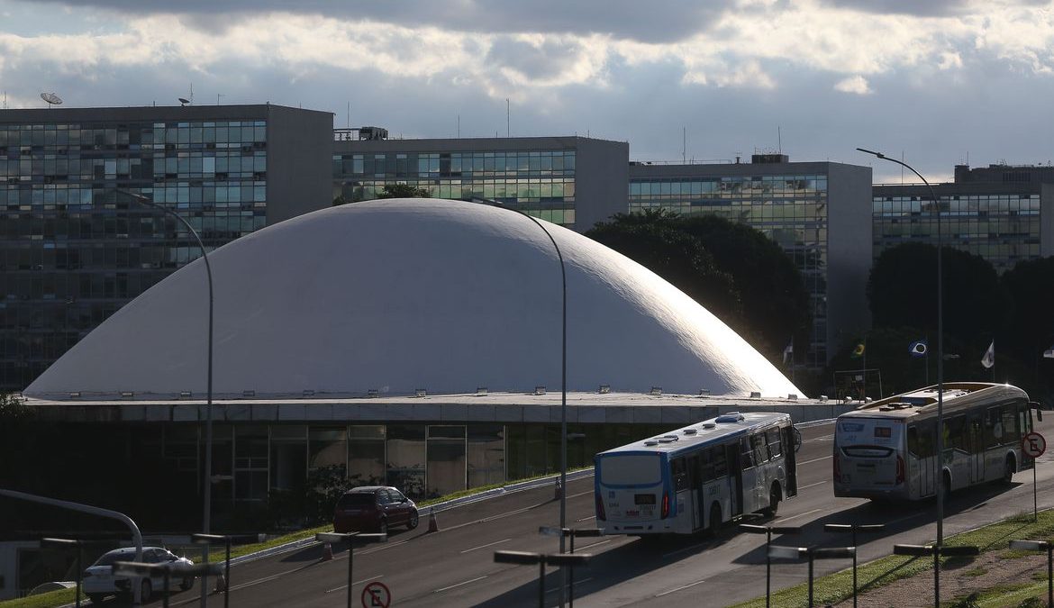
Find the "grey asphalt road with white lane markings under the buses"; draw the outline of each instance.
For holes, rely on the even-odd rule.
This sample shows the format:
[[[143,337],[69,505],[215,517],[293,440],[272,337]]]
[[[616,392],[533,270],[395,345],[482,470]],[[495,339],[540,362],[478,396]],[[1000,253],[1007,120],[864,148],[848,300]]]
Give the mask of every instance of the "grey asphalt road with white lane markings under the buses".
[[[1038,430],[1049,437],[1054,415]],[[872,505],[858,498],[835,498],[831,489],[832,425],[803,430],[798,453],[798,497],[780,506],[775,519],[762,524],[801,526],[798,535],[774,537],[774,545],[848,546],[846,534],[823,531],[827,523],[884,524],[880,534],[861,535],[860,562],[887,555],[897,543],[923,544],[936,534],[932,501],[903,507]],[[1039,460],[1039,508],[1054,506],[1051,456]],[[1032,509],[1032,472],[1019,473],[1014,487],[993,486],[956,493],[945,505],[945,536]],[[536,566],[495,564],[495,550],[558,552],[560,540],[541,536],[541,526],[558,526],[559,502],[553,488],[526,490],[437,514],[440,531],[427,533],[422,516],[414,531],[397,531],[388,543],[356,546],[353,553],[353,606],[372,606],[364,590],[383,584],[393,606],[538,605]],[[596,527],[592,477],[568,483],[569,527]],[[764,594],[764,536],[729,528],[717,538],[684,537],[663,542],[624,536],[579,538],[575,552],[593,557],[574,572],[574,595],[581,606],[726,606]],[[336,548],[332,561],[320,561],[313,545],[232,569],[231,606],[344,606],[348,593],[348,552]],[[816,563],[817,574],[847,567],[847,561]],[[546,604],[558,604],[559,572],[546,576]],[[776,564],[773,589],[803,582],[806,566]],[[376,585],[373,588],[377,588]],[[382,602],[376,604],[384,606]],[[172,606],[196,604],[197,587],[171,599]],[[222,606],[211,594],[209,606]],[[159,604],[159,603],[153,603]]]

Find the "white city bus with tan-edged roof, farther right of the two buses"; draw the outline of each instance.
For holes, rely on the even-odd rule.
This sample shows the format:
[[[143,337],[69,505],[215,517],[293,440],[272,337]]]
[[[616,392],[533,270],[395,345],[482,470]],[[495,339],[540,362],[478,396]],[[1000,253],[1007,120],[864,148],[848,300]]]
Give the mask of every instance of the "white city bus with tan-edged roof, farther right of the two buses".
[[[1021,437],[1036,404],[1010,385],[944,385],[944,466],[937,472],[937,387],[872,401],[835,423],[836,496],[917,501],[1031,469]]]

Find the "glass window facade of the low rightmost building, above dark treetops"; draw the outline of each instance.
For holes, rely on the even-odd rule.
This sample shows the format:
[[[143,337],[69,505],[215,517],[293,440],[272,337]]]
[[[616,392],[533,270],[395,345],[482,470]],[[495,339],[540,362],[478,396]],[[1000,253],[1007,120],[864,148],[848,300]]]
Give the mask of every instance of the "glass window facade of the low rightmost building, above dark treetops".
[[[905,242],[937,243],[932,197],[912,196],[897,187],[876,187],[873,200],[874,254]],[[942,194],[942,242],[989,260],[1002,273],[1040,257],[1039,194]]]

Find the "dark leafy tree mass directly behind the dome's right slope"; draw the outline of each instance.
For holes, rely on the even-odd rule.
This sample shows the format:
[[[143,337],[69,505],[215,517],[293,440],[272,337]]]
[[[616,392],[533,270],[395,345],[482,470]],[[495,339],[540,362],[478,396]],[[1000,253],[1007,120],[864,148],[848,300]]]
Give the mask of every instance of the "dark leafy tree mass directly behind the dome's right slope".
[[[670,281],[769,360],[781,361],[792,332],[809,325],[798,270],[750,227],[646,210],[616,214],[585,234]]]

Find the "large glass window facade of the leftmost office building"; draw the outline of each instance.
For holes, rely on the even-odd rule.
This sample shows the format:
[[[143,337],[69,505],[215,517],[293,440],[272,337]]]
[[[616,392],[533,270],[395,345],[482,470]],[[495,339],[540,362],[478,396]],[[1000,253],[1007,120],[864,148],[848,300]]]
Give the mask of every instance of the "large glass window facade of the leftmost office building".
[[[21,390],[89,331],[267,220],[266,120],[0,123],[0,390]]]

